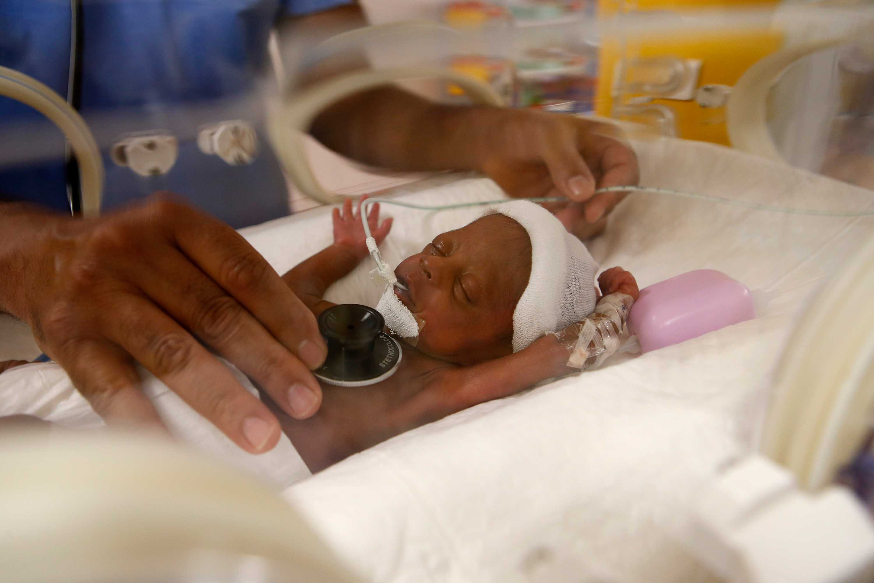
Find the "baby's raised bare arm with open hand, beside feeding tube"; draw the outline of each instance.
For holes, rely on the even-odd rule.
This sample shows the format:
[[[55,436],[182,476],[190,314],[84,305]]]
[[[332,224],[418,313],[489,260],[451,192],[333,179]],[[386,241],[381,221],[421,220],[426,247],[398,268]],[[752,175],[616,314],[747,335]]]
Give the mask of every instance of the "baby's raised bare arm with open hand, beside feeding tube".
[[[331,302],[324,301],[323,295],[332,283],[347,275],[358,263],[368,256],[367,244],[364,242],[364,226],[361,224],[361,202],[358,212],[352,212],[352,201],[343,203],[343,210],[334,209],[334,244],[316,253],[308,260],[294,267],[282,279],[288,283],[302,302],[318,316],[331,307]],[[385,219],[379,225],[379,204],[371,206],[367,216],[371,234],[377,244],[385,239],[392,228],[392,219]]]

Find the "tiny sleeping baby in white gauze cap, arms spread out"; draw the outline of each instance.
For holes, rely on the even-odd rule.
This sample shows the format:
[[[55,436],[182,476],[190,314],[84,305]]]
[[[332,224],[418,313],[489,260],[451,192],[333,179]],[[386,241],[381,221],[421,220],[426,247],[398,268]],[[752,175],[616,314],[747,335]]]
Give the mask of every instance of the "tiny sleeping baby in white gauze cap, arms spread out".
[[[380,243],[391,219],[379,225],[373,205],[368,221]],[[333,245],[283,275],[316,316],[334,305],[323,299],[326,289],[369,255],[350,201],[335,209],[333,226]],[[440,233],[395,270],[404,288],[386,294],[409,309],[420,330],[414,342],[400,338],[404,357],[393,376],[364,387],[323,383],[322,406],[307,420],[288,416],[266,392],[261,399],[279,417],[295,457],[316,472],[413,427],[600,364],[618,348],[638,289],[614,267],[598,278],[600,297],[596,271],[586,246],[541,206],[496,205]],[[187,407],[166,387],[149,392],[149,384],[160,383],[147,381],[153,401],[158,394],[172,401],[156,403],[164,417]],[[184,428],[168,425],[187,439]]]

